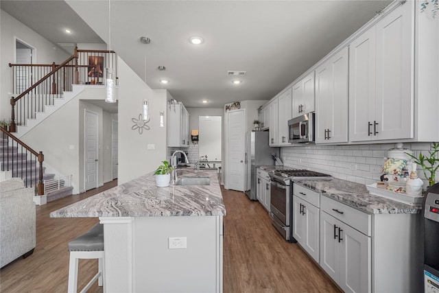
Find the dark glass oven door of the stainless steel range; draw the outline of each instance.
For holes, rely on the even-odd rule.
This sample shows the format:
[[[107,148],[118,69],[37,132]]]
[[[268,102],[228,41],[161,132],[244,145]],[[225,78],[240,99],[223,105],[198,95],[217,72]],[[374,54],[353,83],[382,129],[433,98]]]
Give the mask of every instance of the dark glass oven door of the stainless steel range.
[[[273,226],[289,240],[289,185],[271,180],[270,217]]]

